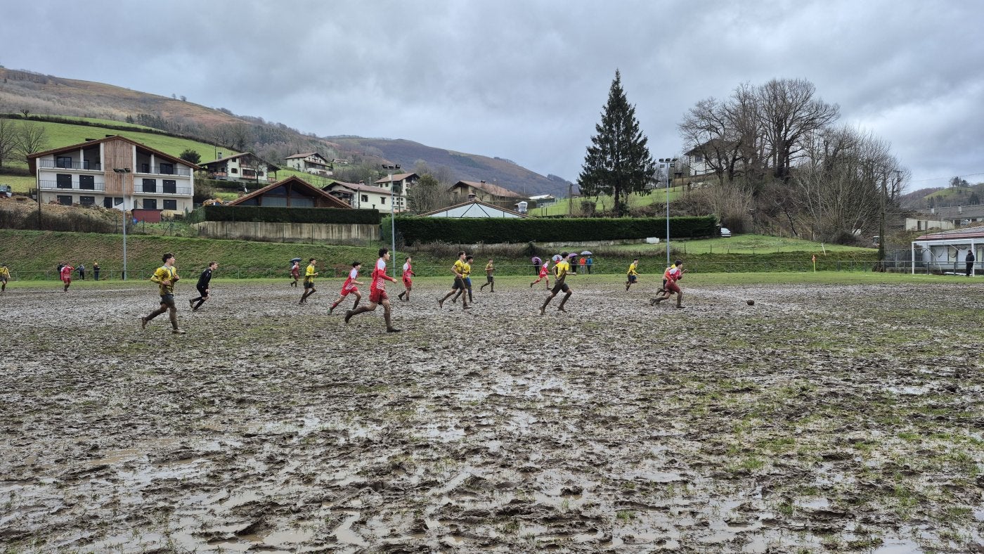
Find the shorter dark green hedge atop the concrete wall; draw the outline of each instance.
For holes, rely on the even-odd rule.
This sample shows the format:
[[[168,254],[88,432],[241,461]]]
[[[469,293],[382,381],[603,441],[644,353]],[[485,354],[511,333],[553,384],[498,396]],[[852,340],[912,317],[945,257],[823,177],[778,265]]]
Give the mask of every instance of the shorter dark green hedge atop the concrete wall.
[[[204,206],[202,208],[205,210],[206,221],[379,224],[378,210],[275,208],[271,206]]]

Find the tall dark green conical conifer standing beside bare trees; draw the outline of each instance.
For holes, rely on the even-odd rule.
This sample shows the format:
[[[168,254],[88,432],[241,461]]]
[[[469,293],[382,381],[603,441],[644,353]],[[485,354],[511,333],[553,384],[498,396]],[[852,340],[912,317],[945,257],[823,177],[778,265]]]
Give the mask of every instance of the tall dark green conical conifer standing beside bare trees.
[[[646,148],[646,136],[639,129],[636,107],[629,104],[622,90],[618,71],[601,123],[594,130],[598,134],[591,137],[591,146],[587,147],[578,186],[588,196],[611,195],[615,215],[624,215],[631,193],[649,191],[646,187],[655,176],[656,164]]]

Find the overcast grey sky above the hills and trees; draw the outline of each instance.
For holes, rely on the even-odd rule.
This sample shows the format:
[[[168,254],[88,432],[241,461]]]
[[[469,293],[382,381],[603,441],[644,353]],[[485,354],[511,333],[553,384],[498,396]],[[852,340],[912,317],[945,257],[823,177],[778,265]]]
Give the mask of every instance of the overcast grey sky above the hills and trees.
[[[615,70],[653,157],[738,85],[806,79],[908,190],[984,181],[984,2],[5,2],[9,69],[176,93],[319,136],[407,139],[577,180]]]

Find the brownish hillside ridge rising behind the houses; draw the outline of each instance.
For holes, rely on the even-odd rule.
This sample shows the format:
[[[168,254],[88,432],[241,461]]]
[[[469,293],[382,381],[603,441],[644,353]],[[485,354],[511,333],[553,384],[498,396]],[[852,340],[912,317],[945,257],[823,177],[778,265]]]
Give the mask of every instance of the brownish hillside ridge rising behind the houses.
[[[141,123],[217,144],[223,154],[252,152],[276,164],[282,164],[286,155],[318,152],[330,159],[338,157],[376,169],[381,163],[399,163],[412,171],[418,162],[423,162],[449,185],[459,180],[485,180],[525,195],[558,196],[566,195],[568,190],[568,183],[563,179],[545,177],[506,159],[464,154],[405,140],[318,138],[280,123],[265,121],[263,117],[235,115],[225,108],[208,107],[180,96],[167,97],[102,83],[0,68],[0,113],[25,111]],[[61,145],[52,144],[51,148],[57,146]],[[208,161],[213,158],[214,150],[210,147],[199,153],[203,161]]]

